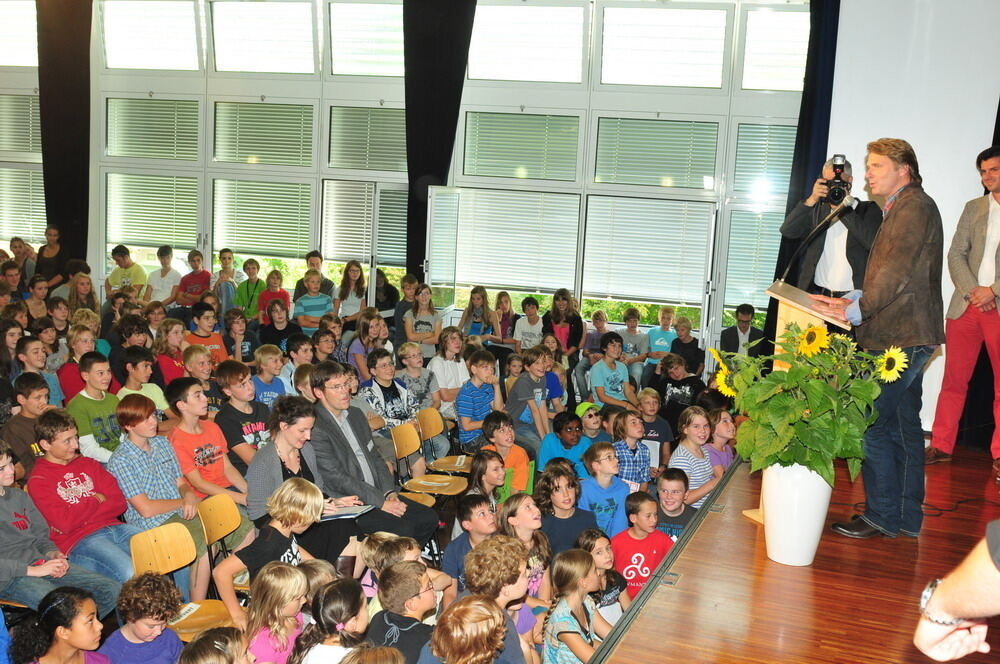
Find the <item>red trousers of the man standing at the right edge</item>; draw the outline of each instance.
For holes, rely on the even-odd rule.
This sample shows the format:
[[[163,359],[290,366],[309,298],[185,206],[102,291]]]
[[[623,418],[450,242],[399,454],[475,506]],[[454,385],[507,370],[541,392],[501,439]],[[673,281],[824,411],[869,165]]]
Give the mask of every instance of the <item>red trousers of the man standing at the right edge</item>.
[[[944,331],[944,380],[934,412],[931,444],[948,454],[955,449],[969,379],[985,342],[993,365],[993,422],[996,424],[990,451],[994,459],[1000,459],[1000,314],[996,309],[982,312],[970,304],[961,316],[945,321]]]

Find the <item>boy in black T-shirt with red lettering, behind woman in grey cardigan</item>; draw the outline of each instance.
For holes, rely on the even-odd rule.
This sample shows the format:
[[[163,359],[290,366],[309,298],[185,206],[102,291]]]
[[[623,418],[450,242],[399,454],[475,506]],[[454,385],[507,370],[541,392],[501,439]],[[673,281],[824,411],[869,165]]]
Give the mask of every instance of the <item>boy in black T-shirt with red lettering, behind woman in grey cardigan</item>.
[[[254,380],[250,368],[242,362],[226,360],[219,365],[215,377],[219,389],[228,397],[215,416],[215,423],[226,437],[230,463],[245,477],[257,448],[271,439],[267,428],[271,412],[254,399]]]

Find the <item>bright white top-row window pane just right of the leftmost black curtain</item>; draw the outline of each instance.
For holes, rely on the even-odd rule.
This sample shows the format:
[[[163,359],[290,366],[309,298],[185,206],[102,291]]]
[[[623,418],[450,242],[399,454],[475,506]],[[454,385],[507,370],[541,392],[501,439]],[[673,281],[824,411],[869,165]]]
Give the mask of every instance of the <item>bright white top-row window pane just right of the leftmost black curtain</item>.
[[[109,69],[200,68],[191,0],[104,0],[104,59]]]

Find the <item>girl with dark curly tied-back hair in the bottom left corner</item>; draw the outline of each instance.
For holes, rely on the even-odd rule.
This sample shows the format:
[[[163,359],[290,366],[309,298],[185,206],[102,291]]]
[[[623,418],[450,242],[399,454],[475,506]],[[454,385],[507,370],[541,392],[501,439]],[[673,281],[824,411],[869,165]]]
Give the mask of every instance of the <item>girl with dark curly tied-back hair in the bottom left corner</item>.
[[[64,585],[42,597],[38,613],[14,630],[11,664],[111,664],[94,652],[101,643],[97,605],[86,590]]]

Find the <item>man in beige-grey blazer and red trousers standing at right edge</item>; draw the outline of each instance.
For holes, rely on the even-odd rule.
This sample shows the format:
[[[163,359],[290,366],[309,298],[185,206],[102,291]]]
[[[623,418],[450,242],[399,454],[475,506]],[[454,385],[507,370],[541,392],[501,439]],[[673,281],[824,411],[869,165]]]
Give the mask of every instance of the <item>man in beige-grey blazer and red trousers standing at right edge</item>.
[[[998,425],[990,452],[993,474],[1000,481],[1000,146],[980,152],[976,168],[989,193],[965,204],[948,250],[955,293],[945,323],[944,381],[924,460],[951,461],[969,379],[985,342],[993,365],[993,421]]]

